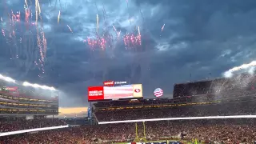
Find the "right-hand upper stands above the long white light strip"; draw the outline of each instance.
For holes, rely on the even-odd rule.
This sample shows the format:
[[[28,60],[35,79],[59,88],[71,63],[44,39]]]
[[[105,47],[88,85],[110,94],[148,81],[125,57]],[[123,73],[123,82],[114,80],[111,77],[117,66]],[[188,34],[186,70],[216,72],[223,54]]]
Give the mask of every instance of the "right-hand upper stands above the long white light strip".
[[[97,102],[98,122],[148,118],[255,115],[255,77],[216,78],[174,85],[174,99]]]

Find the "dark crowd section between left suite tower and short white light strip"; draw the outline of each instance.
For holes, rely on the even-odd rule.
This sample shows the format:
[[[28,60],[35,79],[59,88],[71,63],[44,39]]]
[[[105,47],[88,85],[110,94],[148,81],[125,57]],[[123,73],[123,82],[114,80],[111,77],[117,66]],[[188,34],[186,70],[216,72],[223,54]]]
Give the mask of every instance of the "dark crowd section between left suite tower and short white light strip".
[[[17,130],[35,129],[50,126],[65,126],[65,122],[57,118],[44,118],[44,119],[2,119],[0,120],[0,132],[10,132]]]

